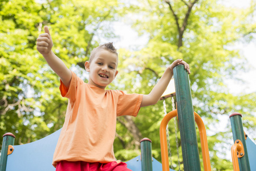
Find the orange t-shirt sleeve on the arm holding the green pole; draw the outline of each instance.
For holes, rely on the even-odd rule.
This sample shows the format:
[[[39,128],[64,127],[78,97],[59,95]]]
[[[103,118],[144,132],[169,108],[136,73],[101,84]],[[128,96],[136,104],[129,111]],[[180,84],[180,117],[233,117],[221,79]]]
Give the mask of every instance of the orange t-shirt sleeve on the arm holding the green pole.
[[[141,94],[127,94],[119,91],[119,99],[117,103],[117,116],[131,115],[137,116],[140,111],[140,104],[143,95]]]

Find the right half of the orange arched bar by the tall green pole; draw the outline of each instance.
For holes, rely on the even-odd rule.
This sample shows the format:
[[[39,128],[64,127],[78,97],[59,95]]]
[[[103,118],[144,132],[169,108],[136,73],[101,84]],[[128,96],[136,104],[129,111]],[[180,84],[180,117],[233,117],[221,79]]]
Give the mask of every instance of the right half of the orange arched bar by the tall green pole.
[[[211,170],[211,167],[210,167],[210,156],[209,156],[209,148],[207,143],[205,124],[202,121],[201,117],[197,114],[197,112],[194,112],[194,120],[196,121],[197,127],[199,129],[201,148],[202,148],[202,160],[204,161],[204,170],[209,171]]]

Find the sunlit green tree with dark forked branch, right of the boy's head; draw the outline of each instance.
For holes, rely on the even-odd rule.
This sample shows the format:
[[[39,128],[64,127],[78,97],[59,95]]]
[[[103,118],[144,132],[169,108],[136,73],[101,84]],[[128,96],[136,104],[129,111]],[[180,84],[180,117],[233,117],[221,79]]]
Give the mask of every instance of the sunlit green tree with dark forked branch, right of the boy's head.
[[[192,70],[190,84],[194,110],[204,119],[205,125],[217,123],[218,115],[237,111],[250,120],[251,125],[245,126],[254,130],[252,99],[255,93],[231,95],[225,85],[225,79],[235,79],[239,71],[246,70],[245,58],[230,47],[241,40],[253,38],[255,23],[251,18],[255,13],[254,7],[255,2],[243,10],[227,8],[220,1],[137,1],[131,7],[137,16],[133,26],[140,34],[148,34],[149,41],[141,50],[132,53],[123,50],[120,53],[124,54],[120,63],[125,63],[124,68],[129,66],[126,75],[121,76],[122,82],[131,91],[149,93],[166,66],[175,59],[183,58]],[[153,149],[155,147],[158,152],[159,140],[154,137],[159,137],[156,129],[161,116],[157,112],[162,114],[161,110],[160,104],[143,108],[135,119],[141,134],[153,137],[153,143],[157,144]],[[152,115],[150,111],[153,111]],[[227,127],[230,132],[230,125]],[[173,132],[173,126],[170,128]],[[217,148],[228,139],[232,138],[227,132],[216,133],[208,139],[212,166],[216,170],[231,170],[231,162],[225,157],[218,157],[218,154],[225,156],[226,151],[221,152]]]

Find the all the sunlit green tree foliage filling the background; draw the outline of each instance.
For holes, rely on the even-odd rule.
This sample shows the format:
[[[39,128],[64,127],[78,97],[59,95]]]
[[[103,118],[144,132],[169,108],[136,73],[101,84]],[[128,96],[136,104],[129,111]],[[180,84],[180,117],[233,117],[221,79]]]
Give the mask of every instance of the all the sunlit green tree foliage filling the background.
[[[255,140],[256,93],[232,95],[225,85],[226,79],[235,79],[240,71],[246,70],[244,57],[230,47],[241,40],[254,40],[255,1],[251,1],[249,9],[227,8],[213,0],[196,1],[182,35],[179,28],[188,11],[184,2],[190,1],[170,2],[177,20],[166,2],[2,0],[0,135],[13,132],[15,144],[25,144],[63,125],[67,99],[60,96],[58,76],[35,47],[43,26],[50,27],[55,54],[87,82],[84,61],[94,47],[104,43],[103,40],[116,38],[112,22],[122,19],[132,21],[140,35],[149,35],[149,41],[141,49],[119,50],[119,74],[108,88],[147,94],[165,68],[173,60],[183,58],[192,71],[190,85],[194,110],[201,115],[206,128],[211,129],[210,125],[218,123],[221,115],[240,112],[246,132]],[[179,42],[181,36],[182,44]],[[166,108],[172,109],[170,98],[166,99]],[[141,108],[134,119],[120,117],[114,144],[116,158],[127,161],[139,155],[139,140],[148,137],[152,140],[153,157],[161,161],[159,127],[163,116],[162,101],[159,101],[151,107]],[[132,132],[127,123],[137,132]],[[231,162],[225,158],[226,150],[220,150],[223,144],[231,146],[225,143],[232,139],[230,124],[226,127],[227,131],[208,137],[213,170],[232,170]],[[181,142],[177,132],[176,149],[174,130],[174,123],[170,121],[170,148],[177,170],[178,161],[182,163]]]

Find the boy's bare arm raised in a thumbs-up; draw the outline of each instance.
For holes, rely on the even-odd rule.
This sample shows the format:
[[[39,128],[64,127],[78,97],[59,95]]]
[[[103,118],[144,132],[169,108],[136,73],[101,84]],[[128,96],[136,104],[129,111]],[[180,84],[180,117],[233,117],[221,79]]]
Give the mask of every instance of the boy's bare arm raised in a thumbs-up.
[[[72,73],[68,70],[63,61],[59,59],[54,52],[52,52],[51,48],[53,43],[47,26],[44,26],[44,32],[45,33],[40,34],[36,39],[36,49],[43,55],[52,70],[54,70],[54,72],[60,77],[64,86],[68,88],[70,87]]]

